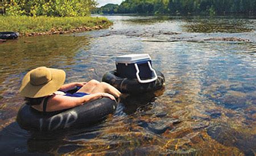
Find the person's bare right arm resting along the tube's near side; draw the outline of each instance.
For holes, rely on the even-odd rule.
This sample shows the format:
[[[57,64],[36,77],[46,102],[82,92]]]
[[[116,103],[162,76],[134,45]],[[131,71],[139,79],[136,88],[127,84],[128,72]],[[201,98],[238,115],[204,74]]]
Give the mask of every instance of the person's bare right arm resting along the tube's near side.
[[[90,94],[90,95],[82,96],[80,98],[63,96],[63,95],[53,95],[48,100],[46,111],[52,112],[52,111],[60,111],[63,109],[73,108],[73,107],[80,106],[82,104],[85,104],[103,97],[107,97],[112,100],[115,100],[113,95],[110,95],[104,92],[98,92],[96,94]]]

